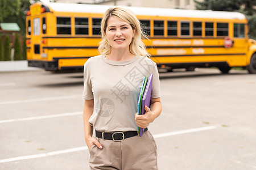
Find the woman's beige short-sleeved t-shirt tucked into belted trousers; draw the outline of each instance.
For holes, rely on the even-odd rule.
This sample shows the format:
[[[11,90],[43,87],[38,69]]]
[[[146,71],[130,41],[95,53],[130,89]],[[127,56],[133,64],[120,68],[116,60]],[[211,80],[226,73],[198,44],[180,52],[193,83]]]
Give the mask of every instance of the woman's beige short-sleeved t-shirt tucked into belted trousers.
[[[136,56],[127,61],[110,61],[105,56],[90,57],[84,65],[82,99],[94,99],[89,124],[98,131],[138,130],[134,120],[143,76],[153,73],[152,98],[160,97],[156,63]]]

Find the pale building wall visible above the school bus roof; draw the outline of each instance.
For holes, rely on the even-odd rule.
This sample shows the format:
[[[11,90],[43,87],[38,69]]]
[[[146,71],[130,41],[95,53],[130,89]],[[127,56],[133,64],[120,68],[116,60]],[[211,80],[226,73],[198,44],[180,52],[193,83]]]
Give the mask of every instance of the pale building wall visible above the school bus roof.
[[[56,0],[56,2],[96,3],[100,5],[195,9],[195,2],[193,0]]]

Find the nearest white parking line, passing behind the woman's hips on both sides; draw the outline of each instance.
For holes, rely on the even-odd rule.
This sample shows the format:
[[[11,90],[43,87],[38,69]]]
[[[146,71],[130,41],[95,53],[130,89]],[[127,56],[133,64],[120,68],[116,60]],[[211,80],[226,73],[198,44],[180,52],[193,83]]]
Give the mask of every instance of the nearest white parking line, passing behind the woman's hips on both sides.
[[[170,133],[157,134],[157,135],[154,135],[154,138],[163,138],[163,137],[168,137],[168,136],[171,136],[171,135],[193,133],[193,132],[196,132],[196,131],[204,131],[204,130],[211,130],[211,129],[216,129],[216,127],[215,126],[207,126],[207,127],[203,127],[203,128],[187,129],[187,130],[181,130],[181,131],[174,131],[174,132],[170,132]],[[17,161],[17,160],[25,160],[25,159],[43,158],[43,157],[46,157],[46,156],[60,155],[60,154],[66,154],[66,153],[69,153],[69,152],[76,152],[76,151],[83,151],[83,150],[88,150],[88,147],[86,147],[86,146],[76,147],[76,148],[70,148],[70,149],[67,149],[67,150],[48,152],[48,153],[45,153],[45,154],[27,155],[27,156],[15,157],[15,158],[1,159],[0,163],[14,162],[14,161]]]

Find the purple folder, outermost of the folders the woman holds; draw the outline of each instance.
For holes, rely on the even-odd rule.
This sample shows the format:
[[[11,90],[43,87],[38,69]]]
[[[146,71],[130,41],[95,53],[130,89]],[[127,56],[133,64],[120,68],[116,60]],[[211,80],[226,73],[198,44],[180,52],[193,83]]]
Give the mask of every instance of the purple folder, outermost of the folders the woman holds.
[[[152,80],[153,80],[153,74],[151,73],[150,76],[148,76],[147,86],[142,97],[141,114],[145,113],[145,109],[144,109],[145,105],[147,107],[150,107]],[[139,136],[142,137],[143,133],[144,133],[144,128],[141,128],[139,131]]]

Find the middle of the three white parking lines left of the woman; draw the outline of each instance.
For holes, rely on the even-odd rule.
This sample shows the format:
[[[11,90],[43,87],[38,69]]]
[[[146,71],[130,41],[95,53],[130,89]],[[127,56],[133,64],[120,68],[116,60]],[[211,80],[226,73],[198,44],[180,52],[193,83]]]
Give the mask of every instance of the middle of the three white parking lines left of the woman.
[[[82,112],[72,112],[72,113],[62,113],[62,114],[51,114],[46,116],[36,116],[36,117],[26,117],[26,118],[15,118],[9,120],[1,120],[0,124],[7,122],[16,122],[16,121],[27,121],[27,120],[38,120],[42,118],[53,118],[53,117],[63,117],[63,116],[74,116],[77,114],[82,114]]]

